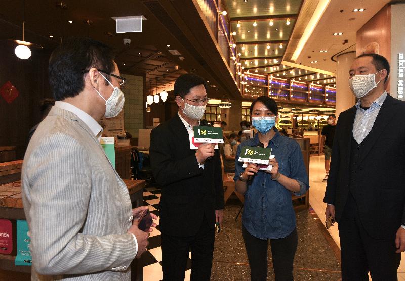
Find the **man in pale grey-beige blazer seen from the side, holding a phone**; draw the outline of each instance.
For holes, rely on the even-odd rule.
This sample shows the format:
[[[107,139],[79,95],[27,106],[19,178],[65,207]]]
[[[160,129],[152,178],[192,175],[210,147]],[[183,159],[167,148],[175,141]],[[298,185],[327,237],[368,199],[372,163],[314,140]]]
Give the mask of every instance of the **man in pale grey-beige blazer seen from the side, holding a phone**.
[[[32,280],[130,280],[149,237],[134,217],[147,208],[132,209],[97,122],[123,108],[124,78],[112,50],[88,38],[55,49],[49,78],[55,106],[31,138],[21,175]]]

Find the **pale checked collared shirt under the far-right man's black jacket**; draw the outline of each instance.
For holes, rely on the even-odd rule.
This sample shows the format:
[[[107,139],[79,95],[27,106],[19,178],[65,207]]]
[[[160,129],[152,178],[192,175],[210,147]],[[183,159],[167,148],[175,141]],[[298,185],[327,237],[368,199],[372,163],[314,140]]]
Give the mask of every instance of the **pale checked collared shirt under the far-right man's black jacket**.
[[[357,101],[356,117],[354,118],[353,124],[353,137],[358,144],[361,144],[373,128],[385,98],[387,98],[386,91],[370,105],[369,109],[362,109],[360,107],[361,101]]]

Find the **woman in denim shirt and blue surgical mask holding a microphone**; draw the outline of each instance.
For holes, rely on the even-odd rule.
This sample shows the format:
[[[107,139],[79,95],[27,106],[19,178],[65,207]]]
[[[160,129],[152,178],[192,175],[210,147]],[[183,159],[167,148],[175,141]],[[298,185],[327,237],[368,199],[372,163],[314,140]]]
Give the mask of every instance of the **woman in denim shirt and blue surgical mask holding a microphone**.
[[[235,159],[236,191],[245,195],[242,235],[248,253],[251,280],[267,278],[267,245],[270,240],[276,281],[293,280],[294,255],[298,236],[291,193],[305,194],[308,176],[298,143],[279,134],[274,127],[277,105],[269,97],[259,97],[250,108],[258,133],[238,146]],[[257,164],[244,169],[238,161],[241,148],[258,146],[272,149],[271,171],[259,171]]]

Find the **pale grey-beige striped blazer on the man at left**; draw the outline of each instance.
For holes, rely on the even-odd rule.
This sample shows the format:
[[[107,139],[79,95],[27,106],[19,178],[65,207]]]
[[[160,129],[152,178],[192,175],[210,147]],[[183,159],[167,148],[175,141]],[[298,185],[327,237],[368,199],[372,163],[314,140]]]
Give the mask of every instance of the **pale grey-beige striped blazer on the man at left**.
[[[32,280],[130,280],[128,189],[82,120],[54,106],[31,138],[21,179]]]

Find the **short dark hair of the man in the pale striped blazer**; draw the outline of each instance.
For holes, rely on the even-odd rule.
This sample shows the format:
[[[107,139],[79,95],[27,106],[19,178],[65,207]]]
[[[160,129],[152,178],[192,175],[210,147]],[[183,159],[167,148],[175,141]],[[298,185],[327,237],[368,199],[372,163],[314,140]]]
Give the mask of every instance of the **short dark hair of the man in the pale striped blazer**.
[[[49,59],[49,82],[55,100],[78,95],[85,86],[84,74],[92,67],[106,73],[113,71],[114,54],[109,46],[90,38],[64,40]],[[110,80],[109,75],[104,76]]]

